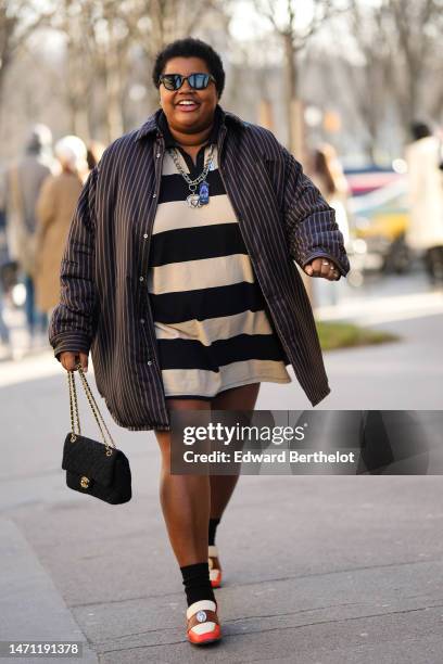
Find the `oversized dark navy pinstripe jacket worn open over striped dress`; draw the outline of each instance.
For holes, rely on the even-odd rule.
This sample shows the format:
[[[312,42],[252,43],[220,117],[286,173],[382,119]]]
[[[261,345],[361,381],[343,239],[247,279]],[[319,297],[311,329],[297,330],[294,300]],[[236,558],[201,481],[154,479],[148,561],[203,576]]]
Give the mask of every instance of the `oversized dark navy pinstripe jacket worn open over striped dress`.
[[[313,406],[330,392],[311,304],[294,265],[350,269],[334,212],[301,164],[260,127],[221,112],[219,171],[287,358]],[[91,352],[117,424],[169,430],[148,293],[149,247],[165,151],[161,110],[114,141],[91,171],[61,264],[49,327],[55,357]]]

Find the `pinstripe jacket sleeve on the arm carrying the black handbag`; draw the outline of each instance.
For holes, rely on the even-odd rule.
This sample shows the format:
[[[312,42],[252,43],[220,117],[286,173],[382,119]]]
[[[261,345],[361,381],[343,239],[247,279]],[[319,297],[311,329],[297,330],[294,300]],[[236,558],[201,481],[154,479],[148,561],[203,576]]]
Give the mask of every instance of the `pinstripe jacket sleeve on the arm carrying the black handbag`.
[[[49,324],[55,357],[64,350],[89,353],[97,325],[94,283],[96,189],[98,168],[89,174],[71,221],[61,268],[60,303]]]

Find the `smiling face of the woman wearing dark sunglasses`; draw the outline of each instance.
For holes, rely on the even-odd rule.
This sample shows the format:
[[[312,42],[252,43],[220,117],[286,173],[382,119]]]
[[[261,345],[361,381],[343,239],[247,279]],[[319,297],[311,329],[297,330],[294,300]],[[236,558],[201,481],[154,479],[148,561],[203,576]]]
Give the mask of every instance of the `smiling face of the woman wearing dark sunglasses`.
[[[204,60],[200,58],[172,58],[166,63],[163,74],[210,74]],[[193,90],[185,80],[179,90],[166,90],[160,85],[160,100],[172,129],[181,133],[198,133],[211,126],[214,111],[218,103],[218,93],[214,81],[204,90]],[[192,104],[181,104],[185,100]]]

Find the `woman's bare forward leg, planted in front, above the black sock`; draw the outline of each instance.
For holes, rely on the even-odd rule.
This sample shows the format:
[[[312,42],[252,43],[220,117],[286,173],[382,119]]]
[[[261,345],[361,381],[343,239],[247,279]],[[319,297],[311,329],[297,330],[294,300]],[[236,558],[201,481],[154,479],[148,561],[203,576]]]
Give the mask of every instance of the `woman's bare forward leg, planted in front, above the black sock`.
[[[211,401],[167,399],[168,408],[208,410]],[[160,501],[169,540],[180,567],[207,559],[208,475],[170,474],[170,432],[155,431],[162,452]]]

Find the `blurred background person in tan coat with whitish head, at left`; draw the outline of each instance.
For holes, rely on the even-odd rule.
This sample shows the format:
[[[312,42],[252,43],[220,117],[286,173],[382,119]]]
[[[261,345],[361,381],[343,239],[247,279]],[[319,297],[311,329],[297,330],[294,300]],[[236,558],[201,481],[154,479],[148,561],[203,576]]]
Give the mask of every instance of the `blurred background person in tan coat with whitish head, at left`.
[[[61,173],[48,176],[36,203],[36,299],[50,312],[60,298],[60,263],[87,169],[86,146],[65,136],[54,148]]]

